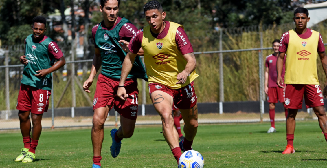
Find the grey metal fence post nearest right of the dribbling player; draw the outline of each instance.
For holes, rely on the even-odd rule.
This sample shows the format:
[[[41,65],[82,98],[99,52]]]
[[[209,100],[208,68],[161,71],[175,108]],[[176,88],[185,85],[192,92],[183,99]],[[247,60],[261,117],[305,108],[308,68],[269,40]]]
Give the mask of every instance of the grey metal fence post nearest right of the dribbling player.
[[[223,31],[219,29],[219,51],[223,50],[222,44]],[[223,114],[223,102],[224,102],[224,69],[223,69],[223,53],[219,53],[219,114]]]

